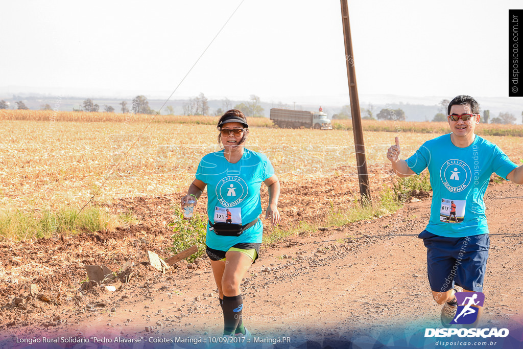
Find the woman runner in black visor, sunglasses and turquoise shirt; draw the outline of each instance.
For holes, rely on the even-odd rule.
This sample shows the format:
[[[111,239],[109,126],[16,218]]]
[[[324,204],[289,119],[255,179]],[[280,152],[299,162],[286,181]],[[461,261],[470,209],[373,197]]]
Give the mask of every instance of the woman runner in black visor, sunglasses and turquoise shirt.
[[[259,219],[262,182],[269,190],[265,218],[270,217],[273,226],[280,222],[278,177],[265,155],[245,148],[248,127],[240,110],[229,110],[220,117],[218,144],[223,144],[224,149],[203,156],[196,179],[181,198],[183,209],[187,201],[197,200],[207,186],[206,252],[218,286],[225,336],[249,335],[242,321],[240,283],[259,254],[263,233]]]

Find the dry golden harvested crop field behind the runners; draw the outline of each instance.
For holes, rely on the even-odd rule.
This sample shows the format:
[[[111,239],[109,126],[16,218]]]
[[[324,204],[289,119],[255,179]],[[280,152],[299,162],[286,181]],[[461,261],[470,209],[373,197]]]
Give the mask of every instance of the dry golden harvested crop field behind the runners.
[[[218,132],[213,126],[217,119],[158,116],[149,123],[151,118],[113,113],[2,111],[0,207],[21,211],[80,208],[102,185],[95,204],[158,195],[176,198],[194,178],[201,157],[219,149]],[[254,126],[247,147],[269,157],[284,185],[331,186],[331,192],[343,194],[336,204],[350,206],[354,202],[358,179],[352,131],[278,129],[268,127],[267,119],[250,121]],[[376,128],[380,122],[364,125]],[[412,130],[412,124],[389,122],[394,132],[365,132],[374,194],[393,181],[385,151],[395,136],[400,136],[402,152],[407,156],[425,140],[441,134],[404,132],[403,127]],[[424,130],[430,126],[420,124],[424,124]],[[435,124],[436,130],[445,126]],[[522,138],[484,137],[520,163]],[[340,193],[339,188],[332,188],[333,178],[344,179]]]

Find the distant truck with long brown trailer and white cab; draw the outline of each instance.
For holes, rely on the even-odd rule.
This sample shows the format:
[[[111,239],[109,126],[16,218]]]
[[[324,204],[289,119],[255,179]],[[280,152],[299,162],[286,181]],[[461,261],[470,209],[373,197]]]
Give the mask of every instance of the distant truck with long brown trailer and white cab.
[[[305,110],[288,110],[288,109],[270,109],[270,119],[281,128],[300,128],[312,127],[315,129],[332,130],[331,120],[327,118],[327,114],[320,111],[305,111]]]

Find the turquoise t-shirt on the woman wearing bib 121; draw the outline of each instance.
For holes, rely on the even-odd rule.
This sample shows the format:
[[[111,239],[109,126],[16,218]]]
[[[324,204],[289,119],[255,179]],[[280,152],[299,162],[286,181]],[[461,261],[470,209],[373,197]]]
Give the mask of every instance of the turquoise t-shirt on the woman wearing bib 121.
[[[242,159],[235,164],[225,159],[223,150],[210,153],[201,159],[196,179],[207,184],[207,214],[212,223],[248,224],[262,212],[260,187],[265,179],[274,175],[267,156],[244,149]],[[228,251],[240,242],[261,243],[263,224],[259,220],[239,237],[224,237],[209,230],[207,246]]]

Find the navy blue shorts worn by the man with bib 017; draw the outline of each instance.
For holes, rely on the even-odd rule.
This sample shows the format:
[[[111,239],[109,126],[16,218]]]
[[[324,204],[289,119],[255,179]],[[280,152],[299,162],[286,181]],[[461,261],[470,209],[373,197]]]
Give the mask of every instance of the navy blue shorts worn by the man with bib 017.
[[[468,291],[483,292],[488,258],[488,234],[465,238],[440,237],[426,230],[418,235],[427,247],[427,274],[430,289],[446,292],[453,284]]]

